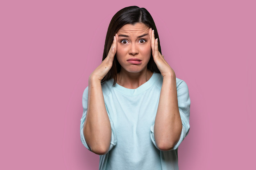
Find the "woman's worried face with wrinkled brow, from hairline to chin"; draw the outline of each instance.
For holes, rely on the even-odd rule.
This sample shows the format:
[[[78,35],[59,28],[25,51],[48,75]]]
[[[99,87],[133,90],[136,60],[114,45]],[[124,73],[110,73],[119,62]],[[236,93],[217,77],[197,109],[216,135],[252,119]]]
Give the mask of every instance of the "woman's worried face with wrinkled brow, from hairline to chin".
[[[140,72],[146,69],[151,55],[149,27],[142,23],[126,24],[117,34],[116,57],[122,66],[121,71]],[[135,58],[139,61],[129,61]]]

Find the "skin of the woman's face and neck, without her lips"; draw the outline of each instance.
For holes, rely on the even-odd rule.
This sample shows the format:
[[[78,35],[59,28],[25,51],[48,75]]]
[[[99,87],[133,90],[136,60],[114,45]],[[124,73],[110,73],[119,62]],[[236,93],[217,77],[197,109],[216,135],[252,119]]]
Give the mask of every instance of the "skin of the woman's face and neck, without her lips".
[[[117,74],[117,84],[125,88],[135,89],[148,81],[153,72],[147,70],[147,64],[151,55],[151,43],[149,28],[145,24],[137,23],[134,26],[126,24],[117,32],[118,43],[116,57],[121,65],[121,71]],[[146,34],[143,37],[138,36]],[[123,37],[120,35],[127,35]],[[129,58],[138,58],[141,64],[127,62]]]

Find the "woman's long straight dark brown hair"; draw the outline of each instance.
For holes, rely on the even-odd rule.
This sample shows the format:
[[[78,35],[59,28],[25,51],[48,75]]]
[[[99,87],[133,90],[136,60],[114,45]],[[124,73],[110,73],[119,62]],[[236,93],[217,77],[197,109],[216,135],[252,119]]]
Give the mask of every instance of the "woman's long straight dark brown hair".
[[[162,54],[156,25],[150,13],[145,8],[140,8],[138,6],[128,6],[116,12],[116,14],[113,16],[113,18],[109,23],[102,61],[107,57],[108,51],[113,41],[113,37],[115,36],[117,31],[125,24],[135,25],[136,23],[143,23],[149,28],[152,28],[152,30],[154,30],[155,39],[158,38],[158,51]],[[152,72],[160,73],[160,70],[157,68],[156,63],[153,59],[152,53],[148,61],[147,69]],[[113,78],[114,79],[113,85],[115,85],[117,80],[117,73],[119,73],[120,70],[121,70],[121,65],[117,61],[117,58],[115,55],[112,67],[108,71],[106,76],[101,80],[101,83],[103,83],[104,81],[107,81],[108,79]]]

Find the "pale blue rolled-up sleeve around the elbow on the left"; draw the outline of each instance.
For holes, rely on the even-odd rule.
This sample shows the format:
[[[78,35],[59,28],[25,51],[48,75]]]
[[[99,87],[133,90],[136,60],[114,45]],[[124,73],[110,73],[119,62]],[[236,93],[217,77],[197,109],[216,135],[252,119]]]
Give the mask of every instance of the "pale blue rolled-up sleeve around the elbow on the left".
[[[85,117],[86,117],[86,113],[87,113],[87,103],[88,103],[88,86],[85,88],[84,93],[83,93],[83,99],[82,99],[82,104],[83,104],[83,115],[81,118],[81,124],[80,124],[80,137],[81,137],[81,141],[83,143],[83,145],[89,150],[92,151],[91,148],[87,145],[85,138],[84,138],[84,121],[85,121]],[[107,113],[108,113],[108,108],[105,104]],[[108,149],[108,151],[110,151],[113,146],[116,145],[117,139],[116,139],[116,132],[115,132],[115,128],[114,128],[114,124],[109,116],[108,113],[108,118],[110,120],[110,124],[111,124],[111,141],[110,141],[110,147]]]

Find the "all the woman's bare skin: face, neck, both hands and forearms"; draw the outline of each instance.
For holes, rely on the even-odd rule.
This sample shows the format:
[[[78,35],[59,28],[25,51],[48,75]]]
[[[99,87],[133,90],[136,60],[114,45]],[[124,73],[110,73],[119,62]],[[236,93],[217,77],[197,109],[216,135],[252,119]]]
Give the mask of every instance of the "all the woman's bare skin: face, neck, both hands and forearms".
[[[144,37],[138,36],[147,33]],[[129,37],[119,37],[125,34]],[[122,41],[122,40],[126,41]],[[147,40],[146,42],[140,41]],[[127,44],[126,44],[127,42]],[[163,76],[163,85],[156,113],[154,136],[159,150],[170,150],[179,140],[182,122],[179,113],[176,76],[164,56],[158,51],[158,42],[151,28],[137,23],[127,24],[118,30],[108,56],[92,72],[88,80],[88,109],[84,122],[84,137],[92,152],[103,155],[108,152],[111,141],[111,125],[103,98],[101,80],[111,69],[114,56],[121,65],[117,83],[135,89],[144,84],[153,72],[147,70],[152,53],[154,61]],[[135,65],[127,62],[129,58],[139,58],[142,63]]]

